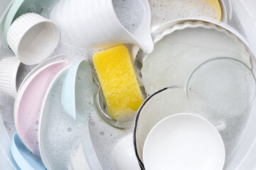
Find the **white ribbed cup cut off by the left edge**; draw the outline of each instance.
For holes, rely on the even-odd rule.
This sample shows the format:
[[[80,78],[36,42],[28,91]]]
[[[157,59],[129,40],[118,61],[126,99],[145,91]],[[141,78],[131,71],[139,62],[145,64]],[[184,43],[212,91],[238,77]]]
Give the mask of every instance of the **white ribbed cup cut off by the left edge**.
[[[0,60],[0,91],[16,96],[16,75],[20,64],[17,57],[6,57]]]

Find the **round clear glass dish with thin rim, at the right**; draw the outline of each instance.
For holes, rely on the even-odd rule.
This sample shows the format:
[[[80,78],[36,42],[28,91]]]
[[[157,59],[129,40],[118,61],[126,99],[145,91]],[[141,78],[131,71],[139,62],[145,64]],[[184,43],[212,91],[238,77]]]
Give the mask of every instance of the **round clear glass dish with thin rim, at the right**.
[[[250,107],[255,92],[255,77],[250,69],[230,58],[204,63],[191,74],[187,85],[188,99],[196,102],[200,98],[216,116],[240,115]]]

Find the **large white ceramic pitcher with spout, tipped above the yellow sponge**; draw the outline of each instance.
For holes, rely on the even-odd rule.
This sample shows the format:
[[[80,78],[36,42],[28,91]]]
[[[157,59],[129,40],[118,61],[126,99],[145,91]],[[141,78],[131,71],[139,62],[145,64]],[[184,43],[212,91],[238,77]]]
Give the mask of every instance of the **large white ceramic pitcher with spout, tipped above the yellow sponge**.
[[[135,44],[149,54],[154,49],[149,2],[140,0],[139,5],[144,17],[134,33],[119,21],[112,0],[62,0],[51,11],[50,19],[60,26],[61,39],[68,45],[97,49]]]

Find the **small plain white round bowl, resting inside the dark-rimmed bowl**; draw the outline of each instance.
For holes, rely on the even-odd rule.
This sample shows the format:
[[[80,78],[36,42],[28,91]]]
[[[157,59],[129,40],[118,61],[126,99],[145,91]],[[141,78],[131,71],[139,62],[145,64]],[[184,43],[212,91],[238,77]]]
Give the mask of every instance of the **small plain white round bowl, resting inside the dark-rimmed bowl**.
[[[225,147],[208,120],[182,113],[154,126],[146,137],[143,159],[146,170],[222,170]]]

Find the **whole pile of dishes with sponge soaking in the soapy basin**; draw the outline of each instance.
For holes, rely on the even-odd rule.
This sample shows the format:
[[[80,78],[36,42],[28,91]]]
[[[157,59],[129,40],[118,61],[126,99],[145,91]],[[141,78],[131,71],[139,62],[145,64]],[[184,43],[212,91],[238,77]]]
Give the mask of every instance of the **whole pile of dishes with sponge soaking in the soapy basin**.
[[[37,3],[15,0],[4,23],[14,55],[0,60],[0,90],[15,98],[16,133],[0,118],[3,168],[223,169],[256,95],[223,1],[185,13],[171,2],[169,21],[154,0],[60,0],[47,17]]]

